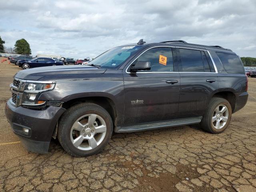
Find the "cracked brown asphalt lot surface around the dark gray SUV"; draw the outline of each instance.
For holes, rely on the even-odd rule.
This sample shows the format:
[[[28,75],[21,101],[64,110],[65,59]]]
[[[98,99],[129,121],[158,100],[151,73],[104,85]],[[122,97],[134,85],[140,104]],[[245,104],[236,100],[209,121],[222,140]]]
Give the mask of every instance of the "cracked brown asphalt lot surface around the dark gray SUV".
[[[4,62],[0,70],[1,192],[256,192],[256,78],[222,134],[198,125],[115,134],[102,153],[75,158],[54,140],[48,154],[23,148],[4,114],[20,68]]]

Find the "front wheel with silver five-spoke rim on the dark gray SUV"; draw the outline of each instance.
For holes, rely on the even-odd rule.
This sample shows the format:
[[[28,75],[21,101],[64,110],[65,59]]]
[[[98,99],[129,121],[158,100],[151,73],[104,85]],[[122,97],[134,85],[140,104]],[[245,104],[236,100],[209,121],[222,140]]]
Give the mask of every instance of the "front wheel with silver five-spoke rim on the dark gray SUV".
[[[100,133],[99,128],[102,128]],[[112,132],[112,118],[104,108],[94,103],[82,103],[72,106],[62,115],[57,137],[68,154],[86,157],[101,152]]]

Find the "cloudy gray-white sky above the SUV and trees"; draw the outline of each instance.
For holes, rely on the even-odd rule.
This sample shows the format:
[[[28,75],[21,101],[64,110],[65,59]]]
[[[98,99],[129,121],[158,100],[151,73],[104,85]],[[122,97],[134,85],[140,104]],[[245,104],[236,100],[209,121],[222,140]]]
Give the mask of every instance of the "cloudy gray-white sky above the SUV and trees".
[[[256,0],[0,0],[7,47],[95,57],[114,46],[185,40],[256,57]]]

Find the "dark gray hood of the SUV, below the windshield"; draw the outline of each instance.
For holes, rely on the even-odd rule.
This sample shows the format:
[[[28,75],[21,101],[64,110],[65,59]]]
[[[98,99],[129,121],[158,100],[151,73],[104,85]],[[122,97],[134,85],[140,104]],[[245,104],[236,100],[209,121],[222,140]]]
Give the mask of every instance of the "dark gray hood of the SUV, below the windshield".
[[[50,66],[21,70],[15,74],[16,78],[24,80],[39,80],[46,76],[58,76],[68,74],[103,74],[106,69],[98,69],[93,66]]]

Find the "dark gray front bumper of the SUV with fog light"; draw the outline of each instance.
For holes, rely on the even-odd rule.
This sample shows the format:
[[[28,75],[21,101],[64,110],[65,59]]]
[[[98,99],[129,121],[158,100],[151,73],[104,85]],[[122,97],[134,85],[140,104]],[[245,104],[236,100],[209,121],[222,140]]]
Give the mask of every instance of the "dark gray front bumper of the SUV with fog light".
[[[28,151],[47,153],[52,133],[60,116],[66,110],[49,106],[45,110],[31,110],[6,103],[5,114],[12,130]],[[25,115],[26,114],[26,115]]]

